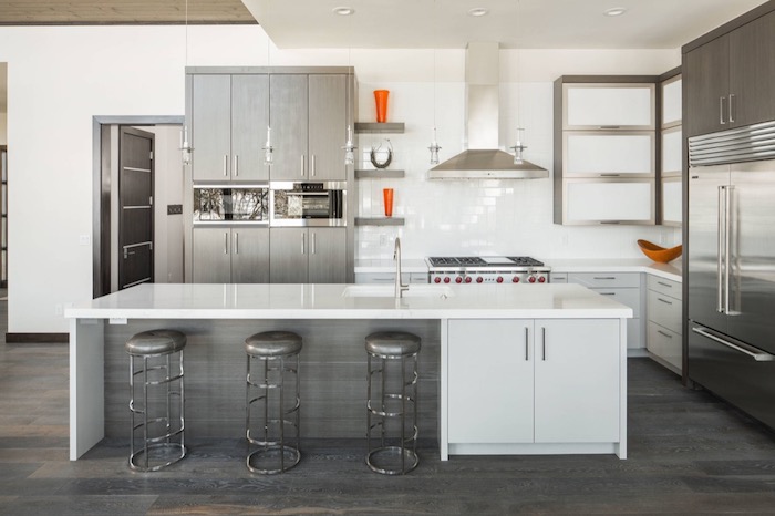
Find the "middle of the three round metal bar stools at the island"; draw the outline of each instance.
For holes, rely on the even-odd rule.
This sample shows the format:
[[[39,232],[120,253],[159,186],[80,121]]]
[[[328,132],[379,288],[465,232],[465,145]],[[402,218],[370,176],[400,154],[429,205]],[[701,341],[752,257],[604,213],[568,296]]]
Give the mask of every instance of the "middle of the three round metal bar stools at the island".
[[[245,340],[248,354],[245,394],[245,436],[250,445],[258,446],[248,453],[246,465],[252,473],[271,475],[283,473],[299,464],[301,460],[299,438],[300,389],[299,353],[301,337],[291,331],[266,331]],[[262,362],[260,371],[254,371],[252,363]],[[296,376],[293,392],[286,392],[286,375]],[[251,391],[256,391],[256,395]],[[272,394],[273,393],[273,394]],[[254,403],[260,402],[258,411]],[[290,404],[290,406],[288,406]],[[251,426],[251,412],[259,412],[259,436]],[[286,443],[286,426],[294,429],[293,446]]]

